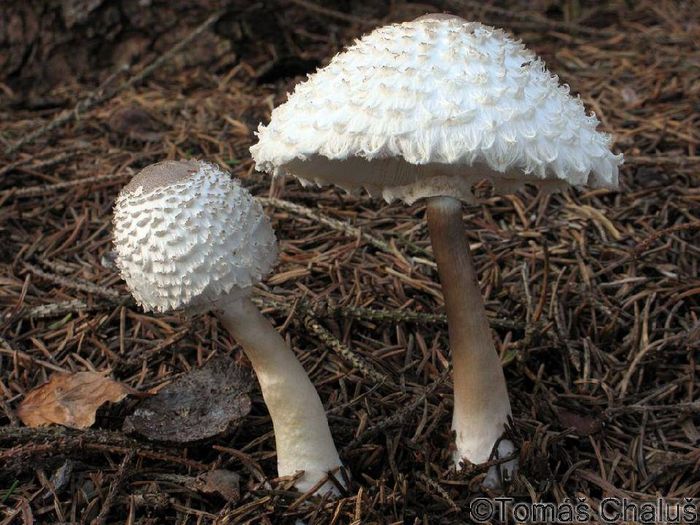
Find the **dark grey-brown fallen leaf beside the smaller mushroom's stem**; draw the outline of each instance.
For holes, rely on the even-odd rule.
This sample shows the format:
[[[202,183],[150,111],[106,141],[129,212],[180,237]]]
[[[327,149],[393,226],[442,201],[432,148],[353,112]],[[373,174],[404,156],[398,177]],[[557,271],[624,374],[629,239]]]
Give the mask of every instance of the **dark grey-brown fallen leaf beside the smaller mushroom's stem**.
[[[214,359],[143,401],[123,429],[175,443],[216,436],[250,412],[252,384],[232,359]]]

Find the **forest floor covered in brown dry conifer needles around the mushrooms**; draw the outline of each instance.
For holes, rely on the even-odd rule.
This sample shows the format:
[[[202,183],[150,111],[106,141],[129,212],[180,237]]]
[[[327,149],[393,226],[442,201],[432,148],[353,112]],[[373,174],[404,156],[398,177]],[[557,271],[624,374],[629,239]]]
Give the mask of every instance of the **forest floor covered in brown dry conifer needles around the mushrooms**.
[[[351,479],[340,498],[302,497],[274,477],[257,385],[229,432],[179,445],[123,431],[139,395],[105,405],[89,430],[29,428],[16,415],[61,372],[105,371],[147,393],[214,358],[249,367],[213,316],[131,302],[109,262],[111,210],[131,175],[166,158],[216,162],[267,198],[248,153],[258,123],[353,38],[427,10],[337,4],[283,3],[270,15],[279,31],[240,48],[220,36],[235,13],[200,11],[179,48],[134,55],[129,68],[40,95],[0,83],[0,524],[469,521],[484,472],[450,469],[447,330],[420,203],[292,180],[264,200],[281,257],[256,298],[327,408]],[[505,494],[593,508],[611,496],[700,497],[697,8],[447,4],[522,38],[626,157],[619,191],[530,189],[465,208],[520,450]],[[200,39],[206,61],[193,58]],[[240,490],[200,490],[212,469],[235,472]]]

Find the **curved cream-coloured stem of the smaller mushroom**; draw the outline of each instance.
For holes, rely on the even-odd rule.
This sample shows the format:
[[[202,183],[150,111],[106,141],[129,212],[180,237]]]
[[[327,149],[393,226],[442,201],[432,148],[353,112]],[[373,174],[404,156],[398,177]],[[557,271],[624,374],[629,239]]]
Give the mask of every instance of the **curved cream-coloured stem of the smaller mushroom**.
[[[280,476],[304,474],[297,489],[308,491],[342,465],[326,412],[304,367],[248,297],[226,302],[223,325],[245,350],[272,418]],[[318,492],[335,491],[326,482]]]

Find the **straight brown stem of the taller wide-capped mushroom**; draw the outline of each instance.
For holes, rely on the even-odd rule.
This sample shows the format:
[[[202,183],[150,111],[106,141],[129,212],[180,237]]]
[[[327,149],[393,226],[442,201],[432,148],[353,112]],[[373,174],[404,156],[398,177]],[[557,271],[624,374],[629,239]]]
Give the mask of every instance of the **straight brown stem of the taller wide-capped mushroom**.
[[[453,197],[431,197],[427,207],[428,230],[445,297],[454,372],[452,430],[456,464],[488,461],[494,444],[503,435],[510,416],[505,376],[493,344],[484,301],[464,235],[462,203]],[[499,455],[513,445],[502,440]],[[513,461],[505,470],[515,468]],[[491,469],[485,484],[497,485]]]

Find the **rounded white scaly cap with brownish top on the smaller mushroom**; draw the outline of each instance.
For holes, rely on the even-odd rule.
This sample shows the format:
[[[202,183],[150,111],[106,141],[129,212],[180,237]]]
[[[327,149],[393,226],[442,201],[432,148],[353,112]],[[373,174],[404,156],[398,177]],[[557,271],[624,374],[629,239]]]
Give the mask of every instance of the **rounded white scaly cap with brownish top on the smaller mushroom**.
[[[145,310],[206,310],[245,294],[272,268],[277,241],[262,206],[217,166],[144,168],[114,206],[116,265]]]

